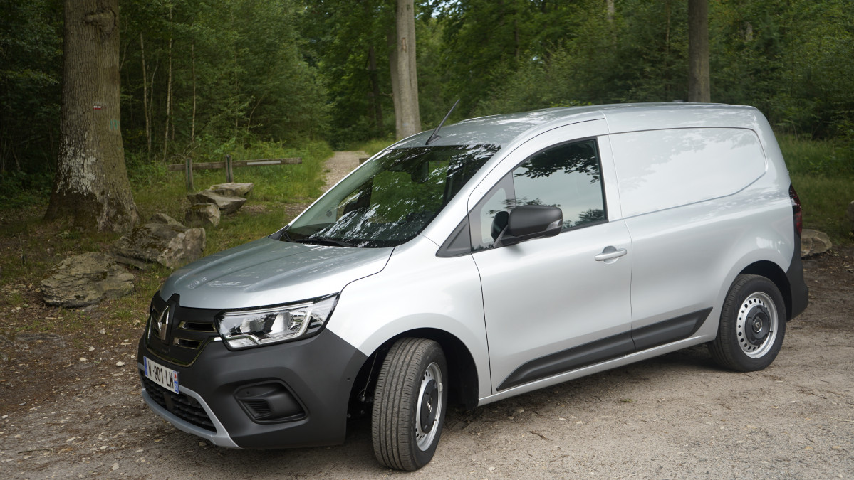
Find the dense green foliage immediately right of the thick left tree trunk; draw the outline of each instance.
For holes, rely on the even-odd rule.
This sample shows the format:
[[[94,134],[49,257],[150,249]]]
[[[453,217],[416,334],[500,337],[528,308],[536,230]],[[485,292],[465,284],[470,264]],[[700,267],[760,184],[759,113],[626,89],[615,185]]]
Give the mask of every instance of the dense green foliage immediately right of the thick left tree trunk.
[[[323,136],[329,108],[316,69],[303,58],[296,32],[301,15],[290,0],[123,3],[126,147],[157,159],[164,141],[167,155],[186,155],[231,139],[294,142]]]

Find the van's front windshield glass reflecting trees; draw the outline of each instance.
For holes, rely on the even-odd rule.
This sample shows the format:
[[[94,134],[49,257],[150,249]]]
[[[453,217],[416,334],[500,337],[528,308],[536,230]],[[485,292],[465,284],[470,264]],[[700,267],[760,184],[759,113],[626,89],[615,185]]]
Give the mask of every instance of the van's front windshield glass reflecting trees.
[[[312,205],[281,240],[332,246],[401,245],[420,233],[498,149],[456,145],[380,153]]]

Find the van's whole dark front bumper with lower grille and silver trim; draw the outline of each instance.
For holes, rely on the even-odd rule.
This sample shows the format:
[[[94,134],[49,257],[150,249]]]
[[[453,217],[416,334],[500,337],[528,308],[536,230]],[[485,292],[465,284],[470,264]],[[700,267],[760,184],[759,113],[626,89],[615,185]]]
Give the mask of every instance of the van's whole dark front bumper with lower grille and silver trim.
[[[174,395],[143,380],[147,390],[155,389],[146,398],[155,403],[155,413],[180,430],[239,448],[342,443],[350,390],[366,360],[328,330],[301,341],[247,350],[232,351],[222,342],[211,342],[190,367],[149,351],[144,338],[138,356],[140,364],[146,356],[177,371],[179,388],[188,393]],[[208,412],[212,419],[200,419]]]

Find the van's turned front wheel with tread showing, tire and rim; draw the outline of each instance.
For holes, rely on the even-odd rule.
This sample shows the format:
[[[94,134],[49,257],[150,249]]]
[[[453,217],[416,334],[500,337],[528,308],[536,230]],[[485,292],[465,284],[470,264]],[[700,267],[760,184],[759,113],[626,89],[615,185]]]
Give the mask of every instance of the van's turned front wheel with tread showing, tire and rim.
[[[384,466],[416,471],[427,465],[447,411],[447,362],[442,347],[401,338],[383,361],[374,394],[371,437]]]

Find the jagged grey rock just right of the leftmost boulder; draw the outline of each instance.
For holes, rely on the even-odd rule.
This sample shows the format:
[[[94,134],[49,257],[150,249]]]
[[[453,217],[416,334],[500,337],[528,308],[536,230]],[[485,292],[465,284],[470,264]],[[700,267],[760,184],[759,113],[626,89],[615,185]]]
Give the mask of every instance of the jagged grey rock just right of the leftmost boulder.
[[[120,263],[145,269],[148,263],[160,263],[170,269],[196,260],[205,248],[205,229],[187,228],[175,223],[145,223],[133,228],[115,245]]]

